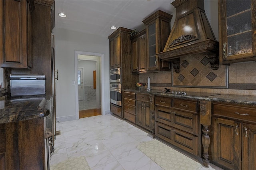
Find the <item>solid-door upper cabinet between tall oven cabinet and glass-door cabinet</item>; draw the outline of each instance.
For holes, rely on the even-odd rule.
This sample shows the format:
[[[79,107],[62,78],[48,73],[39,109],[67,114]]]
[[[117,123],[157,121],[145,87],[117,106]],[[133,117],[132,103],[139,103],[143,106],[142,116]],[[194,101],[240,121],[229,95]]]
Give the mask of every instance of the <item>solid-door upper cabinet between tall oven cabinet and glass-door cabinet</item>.
[[[136,34],[132,41],[132,73],[147,71],[147,42],[146,30]]]

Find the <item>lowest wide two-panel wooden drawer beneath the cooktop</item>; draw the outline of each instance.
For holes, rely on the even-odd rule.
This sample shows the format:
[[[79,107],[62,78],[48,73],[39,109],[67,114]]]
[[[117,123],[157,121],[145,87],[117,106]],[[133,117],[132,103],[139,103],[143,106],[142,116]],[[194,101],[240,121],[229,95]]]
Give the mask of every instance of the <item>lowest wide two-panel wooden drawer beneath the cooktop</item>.
[[[155,133],[159,138],[198,156],[198,136],[156,122]]]

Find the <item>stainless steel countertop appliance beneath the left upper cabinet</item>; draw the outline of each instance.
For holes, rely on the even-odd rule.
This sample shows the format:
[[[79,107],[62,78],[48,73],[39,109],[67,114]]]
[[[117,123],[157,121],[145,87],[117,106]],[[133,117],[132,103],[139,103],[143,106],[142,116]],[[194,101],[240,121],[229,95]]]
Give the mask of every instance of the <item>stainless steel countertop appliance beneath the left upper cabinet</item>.
[[[10,75],[10,96],[45,95],[45,75]]]

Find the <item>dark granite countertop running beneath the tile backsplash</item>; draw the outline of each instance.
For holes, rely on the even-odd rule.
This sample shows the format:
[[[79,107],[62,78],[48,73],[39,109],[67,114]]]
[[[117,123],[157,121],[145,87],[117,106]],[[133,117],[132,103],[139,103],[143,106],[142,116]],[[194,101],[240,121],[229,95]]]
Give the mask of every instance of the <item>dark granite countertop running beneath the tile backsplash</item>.
[[[227,103],[236,103],[242,105],[253,105],[256,106],[256,96],[247,95],[228,95],[228,94],[218,94],[218,93],[200,93],[200,92],[187,92],[186,95],[182,94],[172,94],[172,92],[160,91],[160,90],[150,90],[145,89],[124,89],[123,91],[130,91],[134,93],[148,93],[152,95],[168,96],[181,99],[194,99],[194,100],[208,100],[208,101],[218,101]]]

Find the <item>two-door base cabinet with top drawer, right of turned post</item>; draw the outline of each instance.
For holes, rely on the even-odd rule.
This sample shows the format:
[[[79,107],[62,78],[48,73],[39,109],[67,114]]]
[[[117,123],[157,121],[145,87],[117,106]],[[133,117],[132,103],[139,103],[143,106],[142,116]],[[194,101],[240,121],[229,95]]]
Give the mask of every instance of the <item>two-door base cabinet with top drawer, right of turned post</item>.
[[[213,162],[233,170],[256,167],[256,108],[213,104]]]

